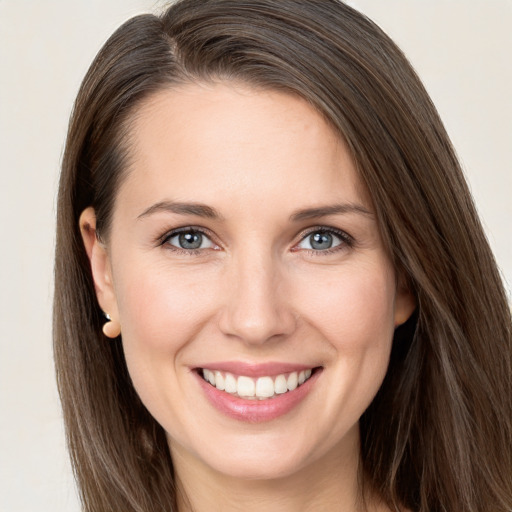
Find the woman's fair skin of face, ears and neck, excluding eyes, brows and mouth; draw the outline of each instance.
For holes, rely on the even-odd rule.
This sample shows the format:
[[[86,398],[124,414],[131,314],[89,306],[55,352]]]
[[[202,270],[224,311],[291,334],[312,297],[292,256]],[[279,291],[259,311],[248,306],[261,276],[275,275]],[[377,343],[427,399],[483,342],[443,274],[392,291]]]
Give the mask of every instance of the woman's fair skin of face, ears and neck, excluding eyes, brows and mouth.
[[[180,510],[360,510],[358,420],[414,301],[397,287],[344,143],[302,99],[226,83],[155,94],[131,133],[106,244],[92,208],[80,226],[100,306],[119,323],[133,384],[167,432],[190,500]],[[164,201],[220,216],[151,209]],[[357,208],[292,219],[339,204]],[[162,243],[187,226],[207,232],[203,248]],[[319,228],[349,241],[333,234],[333,248],[315,250]],[[192,370],[212,361],[322,372],[290,412],[248,423],[202,393]],[[386,509],[370,500],[369,510]]]

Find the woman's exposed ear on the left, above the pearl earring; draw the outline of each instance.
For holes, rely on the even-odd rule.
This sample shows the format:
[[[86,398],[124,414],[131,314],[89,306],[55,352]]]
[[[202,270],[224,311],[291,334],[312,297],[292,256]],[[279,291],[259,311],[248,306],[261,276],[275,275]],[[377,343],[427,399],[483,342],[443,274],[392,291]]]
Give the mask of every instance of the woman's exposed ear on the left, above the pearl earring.
[[[91,263],[91,272],[98,303],[112,319],[118,319],[117,301],[112,279],[112,268],[105,245],[96,232],[96,213],[94,208],[86,208],[80,215],[80,232],[85,251]]]

